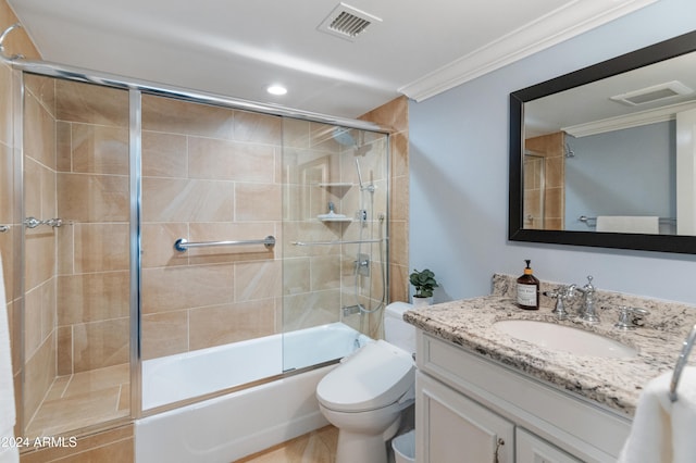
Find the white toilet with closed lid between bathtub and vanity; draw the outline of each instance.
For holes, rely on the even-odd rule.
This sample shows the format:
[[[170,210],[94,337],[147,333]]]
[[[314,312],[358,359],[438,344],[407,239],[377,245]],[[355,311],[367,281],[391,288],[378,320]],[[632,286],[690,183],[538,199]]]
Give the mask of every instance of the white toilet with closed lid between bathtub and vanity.
[[[385,309],[385,340],[350,354],[316,386],[324,417],[338,428],[336,463],[386,463],[386,441],[415,401],[415,328],[403,322],[412,305]]]

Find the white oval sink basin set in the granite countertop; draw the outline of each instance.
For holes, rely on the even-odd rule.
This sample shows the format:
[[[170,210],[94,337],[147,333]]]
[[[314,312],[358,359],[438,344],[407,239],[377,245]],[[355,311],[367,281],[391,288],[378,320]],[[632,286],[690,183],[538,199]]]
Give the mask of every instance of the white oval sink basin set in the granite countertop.
[[[637,354],[634,348],[613,339],[555,323],[505,320],[496,322],[494,326],[513,338],[532,342],[546,350],[563,351],[573,355],[622,359]]]

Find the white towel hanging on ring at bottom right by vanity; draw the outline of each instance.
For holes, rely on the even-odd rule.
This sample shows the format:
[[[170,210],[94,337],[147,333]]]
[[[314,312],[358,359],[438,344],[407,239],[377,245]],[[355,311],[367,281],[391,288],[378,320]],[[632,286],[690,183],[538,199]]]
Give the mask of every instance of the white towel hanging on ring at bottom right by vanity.
[[[669,397],[672,373],[650,380],[638,400],[620,463],[694,463],[696,461],[696,367],[687,366]]]

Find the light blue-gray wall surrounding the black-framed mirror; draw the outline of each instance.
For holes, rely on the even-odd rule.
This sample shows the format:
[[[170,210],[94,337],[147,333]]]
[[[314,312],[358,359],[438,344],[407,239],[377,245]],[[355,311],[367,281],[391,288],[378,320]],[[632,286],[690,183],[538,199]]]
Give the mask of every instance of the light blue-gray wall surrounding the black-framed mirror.
[[[696,304],[696,255],[511,242],[508,96],[511,91],[691,32],[694,0],[661,0],[423,102],[411,102],[410,266],[443,284],[436,302],[490,291],[493,273],[579,283]]]

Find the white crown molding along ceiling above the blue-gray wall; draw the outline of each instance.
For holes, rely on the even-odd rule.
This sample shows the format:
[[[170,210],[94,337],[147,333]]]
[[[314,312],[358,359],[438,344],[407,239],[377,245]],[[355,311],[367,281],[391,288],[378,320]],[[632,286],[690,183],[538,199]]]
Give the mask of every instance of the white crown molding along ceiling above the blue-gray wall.
[[[423,101],[659,0],[574,0],[399,88]]]

